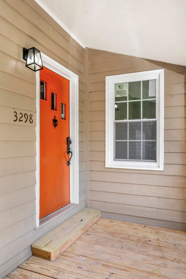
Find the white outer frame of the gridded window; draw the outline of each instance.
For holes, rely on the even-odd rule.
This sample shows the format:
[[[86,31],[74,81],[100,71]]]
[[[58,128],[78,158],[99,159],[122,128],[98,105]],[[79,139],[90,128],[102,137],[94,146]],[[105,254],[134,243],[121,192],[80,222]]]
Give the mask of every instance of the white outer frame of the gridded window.
[[[114,160],[115,84],[156,79],[157,162]],[[137,121],[138,119],[136,119]],[[164,69],[105,77],[105,167],[163,170],[164,166]]]

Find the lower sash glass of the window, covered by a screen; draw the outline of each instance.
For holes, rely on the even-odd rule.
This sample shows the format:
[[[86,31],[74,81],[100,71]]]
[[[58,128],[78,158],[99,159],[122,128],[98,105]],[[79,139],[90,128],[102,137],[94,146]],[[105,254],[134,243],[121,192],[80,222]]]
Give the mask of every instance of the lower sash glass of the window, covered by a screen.
[[[116,122],[115,160],[117,159],[155,162],[156,121]]]

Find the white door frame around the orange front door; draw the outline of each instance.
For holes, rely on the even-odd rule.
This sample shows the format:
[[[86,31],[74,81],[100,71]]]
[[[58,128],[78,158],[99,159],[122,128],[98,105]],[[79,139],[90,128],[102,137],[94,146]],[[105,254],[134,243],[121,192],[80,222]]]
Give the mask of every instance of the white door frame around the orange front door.
[[[79,127],[78,127],[78,75],[65,68],[44,53],[41,53],[43,66],[69,80],[69,131],[72,144],[70,164],[70,203],[79,203]],[[42,71],[42,70],[41,70]],[[40,212],[40,71],[36,72],[36,227],[39,226]]]

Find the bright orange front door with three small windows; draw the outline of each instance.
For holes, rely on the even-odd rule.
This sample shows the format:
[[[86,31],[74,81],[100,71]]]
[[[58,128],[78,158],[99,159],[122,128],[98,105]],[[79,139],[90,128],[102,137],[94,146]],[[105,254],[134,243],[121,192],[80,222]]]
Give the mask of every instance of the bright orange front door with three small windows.
[[[40,219],[70,203],[67,137],[69,81],[44,67],[40,71]]]

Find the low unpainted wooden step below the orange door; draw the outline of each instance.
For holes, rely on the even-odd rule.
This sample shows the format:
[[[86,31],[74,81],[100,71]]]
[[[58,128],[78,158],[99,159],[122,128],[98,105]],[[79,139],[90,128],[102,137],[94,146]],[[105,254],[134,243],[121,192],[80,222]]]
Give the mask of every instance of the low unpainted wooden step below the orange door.
[[[101,217],[101,210],[84,208],[32,243],[32,255],[55,261]]]

